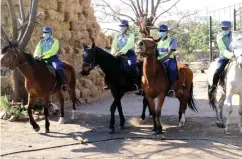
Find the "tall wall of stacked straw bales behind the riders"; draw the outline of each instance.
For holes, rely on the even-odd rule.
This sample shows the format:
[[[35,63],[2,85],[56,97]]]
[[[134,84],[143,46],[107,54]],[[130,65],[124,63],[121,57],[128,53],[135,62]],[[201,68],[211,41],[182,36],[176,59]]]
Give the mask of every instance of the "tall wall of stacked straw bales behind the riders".
[[[100,33],[100,26],[90,6],[91,0],[39,0],[38,18],[33,36],[27,46],[31,53],[41,38],[42,28],[53,28],[53,36],[60,40],[60,58],[71,63],[76,72],[82,64],[83,44],[91,44],[90,37],[102,48],[110,48],[111,37]],[[19,1],[13,0],[16,15],[19,17]],[[25,12],[29,10],[29,0],[24,0]],[[1,22],[4,29],[11,33],[11,20],[5,0],[1,1]],[[93,70],[90,76],[81,77],[77,73],[77,93],[81,98],[94,97],[103,92],[103,74]]]

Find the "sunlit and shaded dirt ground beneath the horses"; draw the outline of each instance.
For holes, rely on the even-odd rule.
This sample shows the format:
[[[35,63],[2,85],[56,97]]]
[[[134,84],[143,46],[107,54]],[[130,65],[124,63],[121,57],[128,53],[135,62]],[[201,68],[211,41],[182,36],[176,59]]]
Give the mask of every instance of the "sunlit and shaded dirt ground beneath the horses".
[[[215,112],[207,104],[206,74],[196,74],[195,99],[199,113],[187,110],[184,128],[178,128],[177,101],[167,100],[162,110],[162,124],[166,140],[151,135],[152,120],[140,124],[141,97],[125,95],[122,104],[126,128],[108,134],[109,106],[112,98],[78,107],[76,120],[70,120],[66,110],[66,124],[59,125],[51,118],[51,133],[45,134],[44,121],[38,122],[36,133],[27,122],[1,120],[1,157],[8,159],[71,159],[71,158],[242,158],[242,134],[239,133],[238,97],[233,98],[231,135],[215,124]],[[226,107],[225,117],[227,115]],[[119,117],[116,116],[116,125]],[[88,139],[80,144],[75,138]],[[21,152],[22,151],[22,152]]]

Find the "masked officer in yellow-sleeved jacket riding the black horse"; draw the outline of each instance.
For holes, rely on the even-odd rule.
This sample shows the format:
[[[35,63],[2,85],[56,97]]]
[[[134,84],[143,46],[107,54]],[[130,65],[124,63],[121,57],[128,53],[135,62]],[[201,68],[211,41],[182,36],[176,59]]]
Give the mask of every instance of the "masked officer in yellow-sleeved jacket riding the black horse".
[[[121,20],[119,24],[120,33],[116,35],[112,42],[111,54],[119,57],[127,57],[128,59],[128,67],[131,71],[129,73],[130,78],[132,78],[132,82],[135,86],[135,90],[137,89],[136,85],[136,55],[133,50],[135,36],[134,34],[129,32],[129,22],[127,20]],[[109,89],[108,86],[104,87],[104,89]]]

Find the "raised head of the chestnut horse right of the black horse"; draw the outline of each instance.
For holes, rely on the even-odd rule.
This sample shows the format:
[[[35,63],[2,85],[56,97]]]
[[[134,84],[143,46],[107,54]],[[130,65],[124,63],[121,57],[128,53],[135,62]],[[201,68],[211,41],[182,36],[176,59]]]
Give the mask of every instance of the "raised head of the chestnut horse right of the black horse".
[[[143,38],[135,46],[135,53],[138,57],[146,58],[149,56],[156,57],[156,41],[152,38]]]

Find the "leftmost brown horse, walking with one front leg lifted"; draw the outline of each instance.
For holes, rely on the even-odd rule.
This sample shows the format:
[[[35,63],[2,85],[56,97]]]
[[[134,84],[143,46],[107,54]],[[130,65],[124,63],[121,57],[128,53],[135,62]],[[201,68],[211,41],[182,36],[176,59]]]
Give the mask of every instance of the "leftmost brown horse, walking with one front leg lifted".
[[[34,121],[32,108],[36,100],[40,98],[44,103],[45,115],[45,132],[49,132],[49,119],[48,119],[48,105],[49,97],[51,94],[57,96],[61,106],[61,117],[59,123],[64,123],[64,97],[60,89],[60,84],[57,82],[56,77],[50,72],[47,64],[41,61],[36,61],[32,55],[21,52],[17,47],[7,46],[2,49],[1,54],[2,66],[9,67],[10,69],[18,68],[25,78],[25,88],[28,92],[28,115],[30,124],[35,131],[39,131],[39,125]],[[80,104],[76,98],[75,86],[76,77],[75,70],[72,65],[63,62],[63,68],[66,76],[66,84],[70,88],[70,98],[72,100],[72,119],[75,117],[75,104]]]

